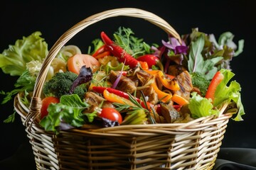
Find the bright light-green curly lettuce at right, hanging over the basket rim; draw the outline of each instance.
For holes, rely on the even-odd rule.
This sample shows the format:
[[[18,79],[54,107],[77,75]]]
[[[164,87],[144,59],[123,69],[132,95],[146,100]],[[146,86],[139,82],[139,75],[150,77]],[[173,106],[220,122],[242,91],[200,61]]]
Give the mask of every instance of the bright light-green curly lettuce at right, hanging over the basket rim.
[[[237,81],[230,81],[230,79],[235,75],[229,69],[220,69],[220,72],[224,75],[223,81],[217,86],[215,91],[214,101],[207,98],[203,98],[196,92],[191,93],[191,99],[188,104],[188,108],[191,111],[192,118],[201,118],[208,115],[218,115],[220,111],[219,108],[223,103],[235,103],[238,111],[235,112],[237,115],[233,120],[242,120],[242,115],[245,115],[244,108],[241,101],[241,87]],[[228,82],[230,82],[228,86]],[[234,113],[234,114],[235,114]]]

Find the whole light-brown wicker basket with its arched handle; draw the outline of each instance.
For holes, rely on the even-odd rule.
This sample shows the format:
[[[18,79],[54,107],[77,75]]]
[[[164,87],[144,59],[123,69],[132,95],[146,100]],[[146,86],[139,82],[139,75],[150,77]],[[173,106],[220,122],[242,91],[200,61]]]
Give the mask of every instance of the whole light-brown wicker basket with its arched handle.
[[[117,8],[97,13],[70,28],[50,49],[27,108],[18,94],[14,108],[21,115],[33,148],[36,169],[212,169],[230,113],[198,118],[189,123],[122,125],[113,128],[68,130],[59,135],[38,125],[41,92],[50,63],[75,34],[115,16],[143,18],[180,39],[169,23],[138,8]],[[225,110],[225,109],[223,109]]]

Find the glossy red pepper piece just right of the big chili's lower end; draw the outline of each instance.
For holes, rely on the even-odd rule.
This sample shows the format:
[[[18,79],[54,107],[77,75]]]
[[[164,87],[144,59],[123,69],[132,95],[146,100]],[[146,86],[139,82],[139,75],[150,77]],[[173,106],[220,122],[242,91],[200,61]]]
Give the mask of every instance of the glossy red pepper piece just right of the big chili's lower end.
[[[142,55],[137,57],[137,60],[141,62],[146,62],[149,65],[149,69],[151,69],[153,65],[156,65],[161,71],[164,71],[163,64],[159,60],[159,57],[156,57],[156,55]]]

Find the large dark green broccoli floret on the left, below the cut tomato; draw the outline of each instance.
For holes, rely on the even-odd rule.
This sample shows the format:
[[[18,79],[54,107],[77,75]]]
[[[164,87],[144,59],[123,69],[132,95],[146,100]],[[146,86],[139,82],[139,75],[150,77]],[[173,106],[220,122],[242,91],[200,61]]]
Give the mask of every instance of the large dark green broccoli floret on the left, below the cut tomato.
[[[43,86],[43,94],[45,96],[55,96],[58,98],[65,94],[70,94],[70,88],[77,77],[78,74],[73,72],[58,72],[52,79],[46,81],[46,84]],[[78,94],[80,98],[84,98],[85,89],[83,85],[75,87],[73,94]]]

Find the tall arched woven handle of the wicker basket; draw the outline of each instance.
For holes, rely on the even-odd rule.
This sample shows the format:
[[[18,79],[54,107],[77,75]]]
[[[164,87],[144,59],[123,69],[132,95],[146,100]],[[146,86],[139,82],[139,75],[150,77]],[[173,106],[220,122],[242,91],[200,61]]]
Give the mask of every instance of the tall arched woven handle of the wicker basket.
[[[28,112],[28,115],[26,116],[26,122],[25,122],[26,125],[29,124],[28,120],[31,120],[31,118],[32,118],[32,121],[35,120],[36,115],[40,113],[41,92],[43,89],[43,84],[44,84],[44,81],[46,80],[46,75],[50,67],[50,63],[53,61],[55,56],[58,55],[58,52],[60,51],[61,47],[63,47],[63,45],[65,45],[65,43],[68,42],[68,40],[73,38],[74,35],[79,33],[80,30],[87,28],[87,26],[90,26],[93,23],[97,23],[98,21],[102,21],[106,18],[112,18],[115,16],[130,16],[134,18],[143,18],[146,21],[149,21],[150,23],[153,23],[154,25],[158,26],[169,35],[174,36],[174,38],[177,38],[181,42],[180,35],[176,33],[176,30],[174,30],[174,28],[172,28],[169,25],[169,23],[164,21],[164,19],[160,18],[159,16],[156,16],[154,13],[151,13],[149,11],[144,11],[139,8],[116,8],[116,9],[103,11],[101,13],[96,13],[95,15],[85,18],[84,20],[75,24],[75,26],[73,26],[72,28],[67,30],[63,35],[60,36],[60,38],[57,40],[57,42],[55,42],[53,47],[48,52],[47,57],[43,61],[42,68],[38,73],[38,77],[36,79],[33,96],[31,98],[31,106],[29,107],[29,112]]]

